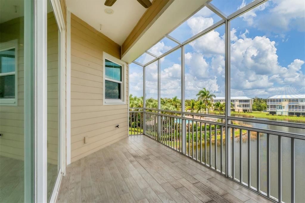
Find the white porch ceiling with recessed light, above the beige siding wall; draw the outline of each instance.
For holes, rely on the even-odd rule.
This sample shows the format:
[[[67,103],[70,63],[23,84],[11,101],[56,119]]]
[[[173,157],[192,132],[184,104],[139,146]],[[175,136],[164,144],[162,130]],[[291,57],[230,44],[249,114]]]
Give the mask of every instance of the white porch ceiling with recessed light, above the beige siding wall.
[[[66,0],[70,12],[122,45],[146,9],[136,0],[117,0],[111,7],[104,3],[105,0]],[[107,8],[114,13],[106,14]]]

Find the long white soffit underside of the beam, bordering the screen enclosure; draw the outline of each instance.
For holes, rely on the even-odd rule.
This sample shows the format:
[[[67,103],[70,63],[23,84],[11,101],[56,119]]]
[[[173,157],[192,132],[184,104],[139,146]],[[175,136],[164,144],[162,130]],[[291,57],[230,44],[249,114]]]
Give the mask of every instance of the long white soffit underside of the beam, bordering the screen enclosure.
[[[158,19],[131,45],[122,55],[122,60],[131,63],[147,49],[158,42],[165,34],[184,22],[198,9],[202,8],[207,0],[175,0],[160,15]]]

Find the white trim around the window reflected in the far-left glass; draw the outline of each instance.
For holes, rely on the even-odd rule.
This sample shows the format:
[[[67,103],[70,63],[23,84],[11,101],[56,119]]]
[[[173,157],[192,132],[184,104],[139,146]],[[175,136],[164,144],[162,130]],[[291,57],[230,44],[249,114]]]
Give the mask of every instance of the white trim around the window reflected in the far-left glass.
[[[15,74],[15,98],[0,98],[0,105],[3,106],[16,106],[18,104],[18,40],[11,40],[0,43],[0,52],[9,49],[15,49],[15,71],[9,73],[0,73],[0,76]]]

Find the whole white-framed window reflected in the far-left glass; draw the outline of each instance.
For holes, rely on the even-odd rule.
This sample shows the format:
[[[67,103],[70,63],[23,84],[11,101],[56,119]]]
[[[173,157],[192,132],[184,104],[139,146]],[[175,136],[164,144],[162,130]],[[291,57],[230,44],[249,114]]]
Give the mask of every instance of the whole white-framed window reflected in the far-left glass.
[[[17,40],[0,44],[0,105],[17,105]]]

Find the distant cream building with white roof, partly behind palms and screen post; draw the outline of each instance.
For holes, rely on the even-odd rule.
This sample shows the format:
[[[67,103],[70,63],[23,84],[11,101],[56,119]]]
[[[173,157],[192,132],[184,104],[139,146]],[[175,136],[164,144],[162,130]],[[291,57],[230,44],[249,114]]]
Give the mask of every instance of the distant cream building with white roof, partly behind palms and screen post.
[[[215,97],[213,104],[216,102],[224,103],[224,97]],[[236,112],[252,112],[253,99],[249,97],[231,97],[231,110]]]

